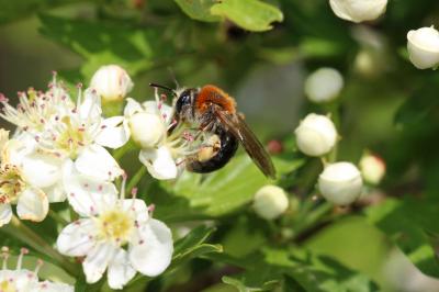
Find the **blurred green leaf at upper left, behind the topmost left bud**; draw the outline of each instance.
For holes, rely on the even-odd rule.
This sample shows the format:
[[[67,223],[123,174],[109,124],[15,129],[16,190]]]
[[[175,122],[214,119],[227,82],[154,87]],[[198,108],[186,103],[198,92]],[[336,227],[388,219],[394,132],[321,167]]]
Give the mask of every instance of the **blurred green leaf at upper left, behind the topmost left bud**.
[[[102,65],[117,64],[131,75],[166,61],[173,53],[159,29],[137,29],[130,24],[40,16],[41,32],[87,59],[81,67],[88,80]]]

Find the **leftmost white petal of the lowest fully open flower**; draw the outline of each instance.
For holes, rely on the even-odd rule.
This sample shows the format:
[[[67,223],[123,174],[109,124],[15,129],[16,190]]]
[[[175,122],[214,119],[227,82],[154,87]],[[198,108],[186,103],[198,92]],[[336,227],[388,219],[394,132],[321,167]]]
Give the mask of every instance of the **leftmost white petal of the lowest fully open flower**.
[[[94,231],[95,224],[91,218],[81,218],[70,223],[60,232],[56,240],[59,252],[69,257],[86,256],[95,245]]]

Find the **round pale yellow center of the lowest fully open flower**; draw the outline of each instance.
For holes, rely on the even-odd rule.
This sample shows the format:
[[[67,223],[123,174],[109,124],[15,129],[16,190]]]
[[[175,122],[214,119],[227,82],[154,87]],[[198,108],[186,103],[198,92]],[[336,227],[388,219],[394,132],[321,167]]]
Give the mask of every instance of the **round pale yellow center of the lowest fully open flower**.
[[[99,237],[114,240],[121,246],[128,242],[134,228],[134,220],[122,210],[111,210],[102,213],[98,218]]]

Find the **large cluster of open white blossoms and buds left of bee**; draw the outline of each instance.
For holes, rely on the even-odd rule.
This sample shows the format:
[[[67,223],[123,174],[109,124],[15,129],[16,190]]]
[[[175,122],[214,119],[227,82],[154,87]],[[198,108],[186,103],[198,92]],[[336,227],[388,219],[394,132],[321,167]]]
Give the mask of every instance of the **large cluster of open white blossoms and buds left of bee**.
[[[16,126],[12,135],[0,130],[0,227],[13,218],[13,205],[19,218],[41,222],[49,203],[67,200],[79,218],[60,232],[58,251],[83,259],[89,283],[106,271],[112,289],[122,289],[136,272],[148,277],[164,272],[173,246],[170,229],[151,217],[154,206],[136,199],[136,189],[131,188],[133,199],[125,199],[127,178],[109,149],[132,139],[154,178],[176,179],[188,159],[209,143],[177,125],[172,106],[157,91],[155,100],[142,104],[126,98],[132,87],[126,71],[110,65],[95,72],[89,88],[78,86],[75,99],[56,74],[47,91],[19,92],[16,106],[0,96],[0,116]],[[123,115],[104,116],[101,101],[125,100]],[[117,191],[115,183],[121,181]],[[22,271],[4,267],[0,291],[10,291],[21,281],[1,279],[15,274],[19,279]],[[29,285],[37,284],[30,278]]]

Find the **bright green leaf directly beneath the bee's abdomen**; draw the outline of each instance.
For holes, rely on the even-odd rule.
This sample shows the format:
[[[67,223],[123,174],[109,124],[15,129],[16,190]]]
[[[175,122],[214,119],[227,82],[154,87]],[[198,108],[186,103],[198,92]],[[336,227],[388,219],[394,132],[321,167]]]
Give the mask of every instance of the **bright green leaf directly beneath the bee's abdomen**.
[[[281,177],[299,168],[303,160],[274,157],[273,162]],[[164,183],[175,195],[185,198],[189,206],[200,214],[222,216],[249,203],[259,188],[273,181],[266,178],[247,155],[241,155],[205,179],[184,172],[177,183]]]

